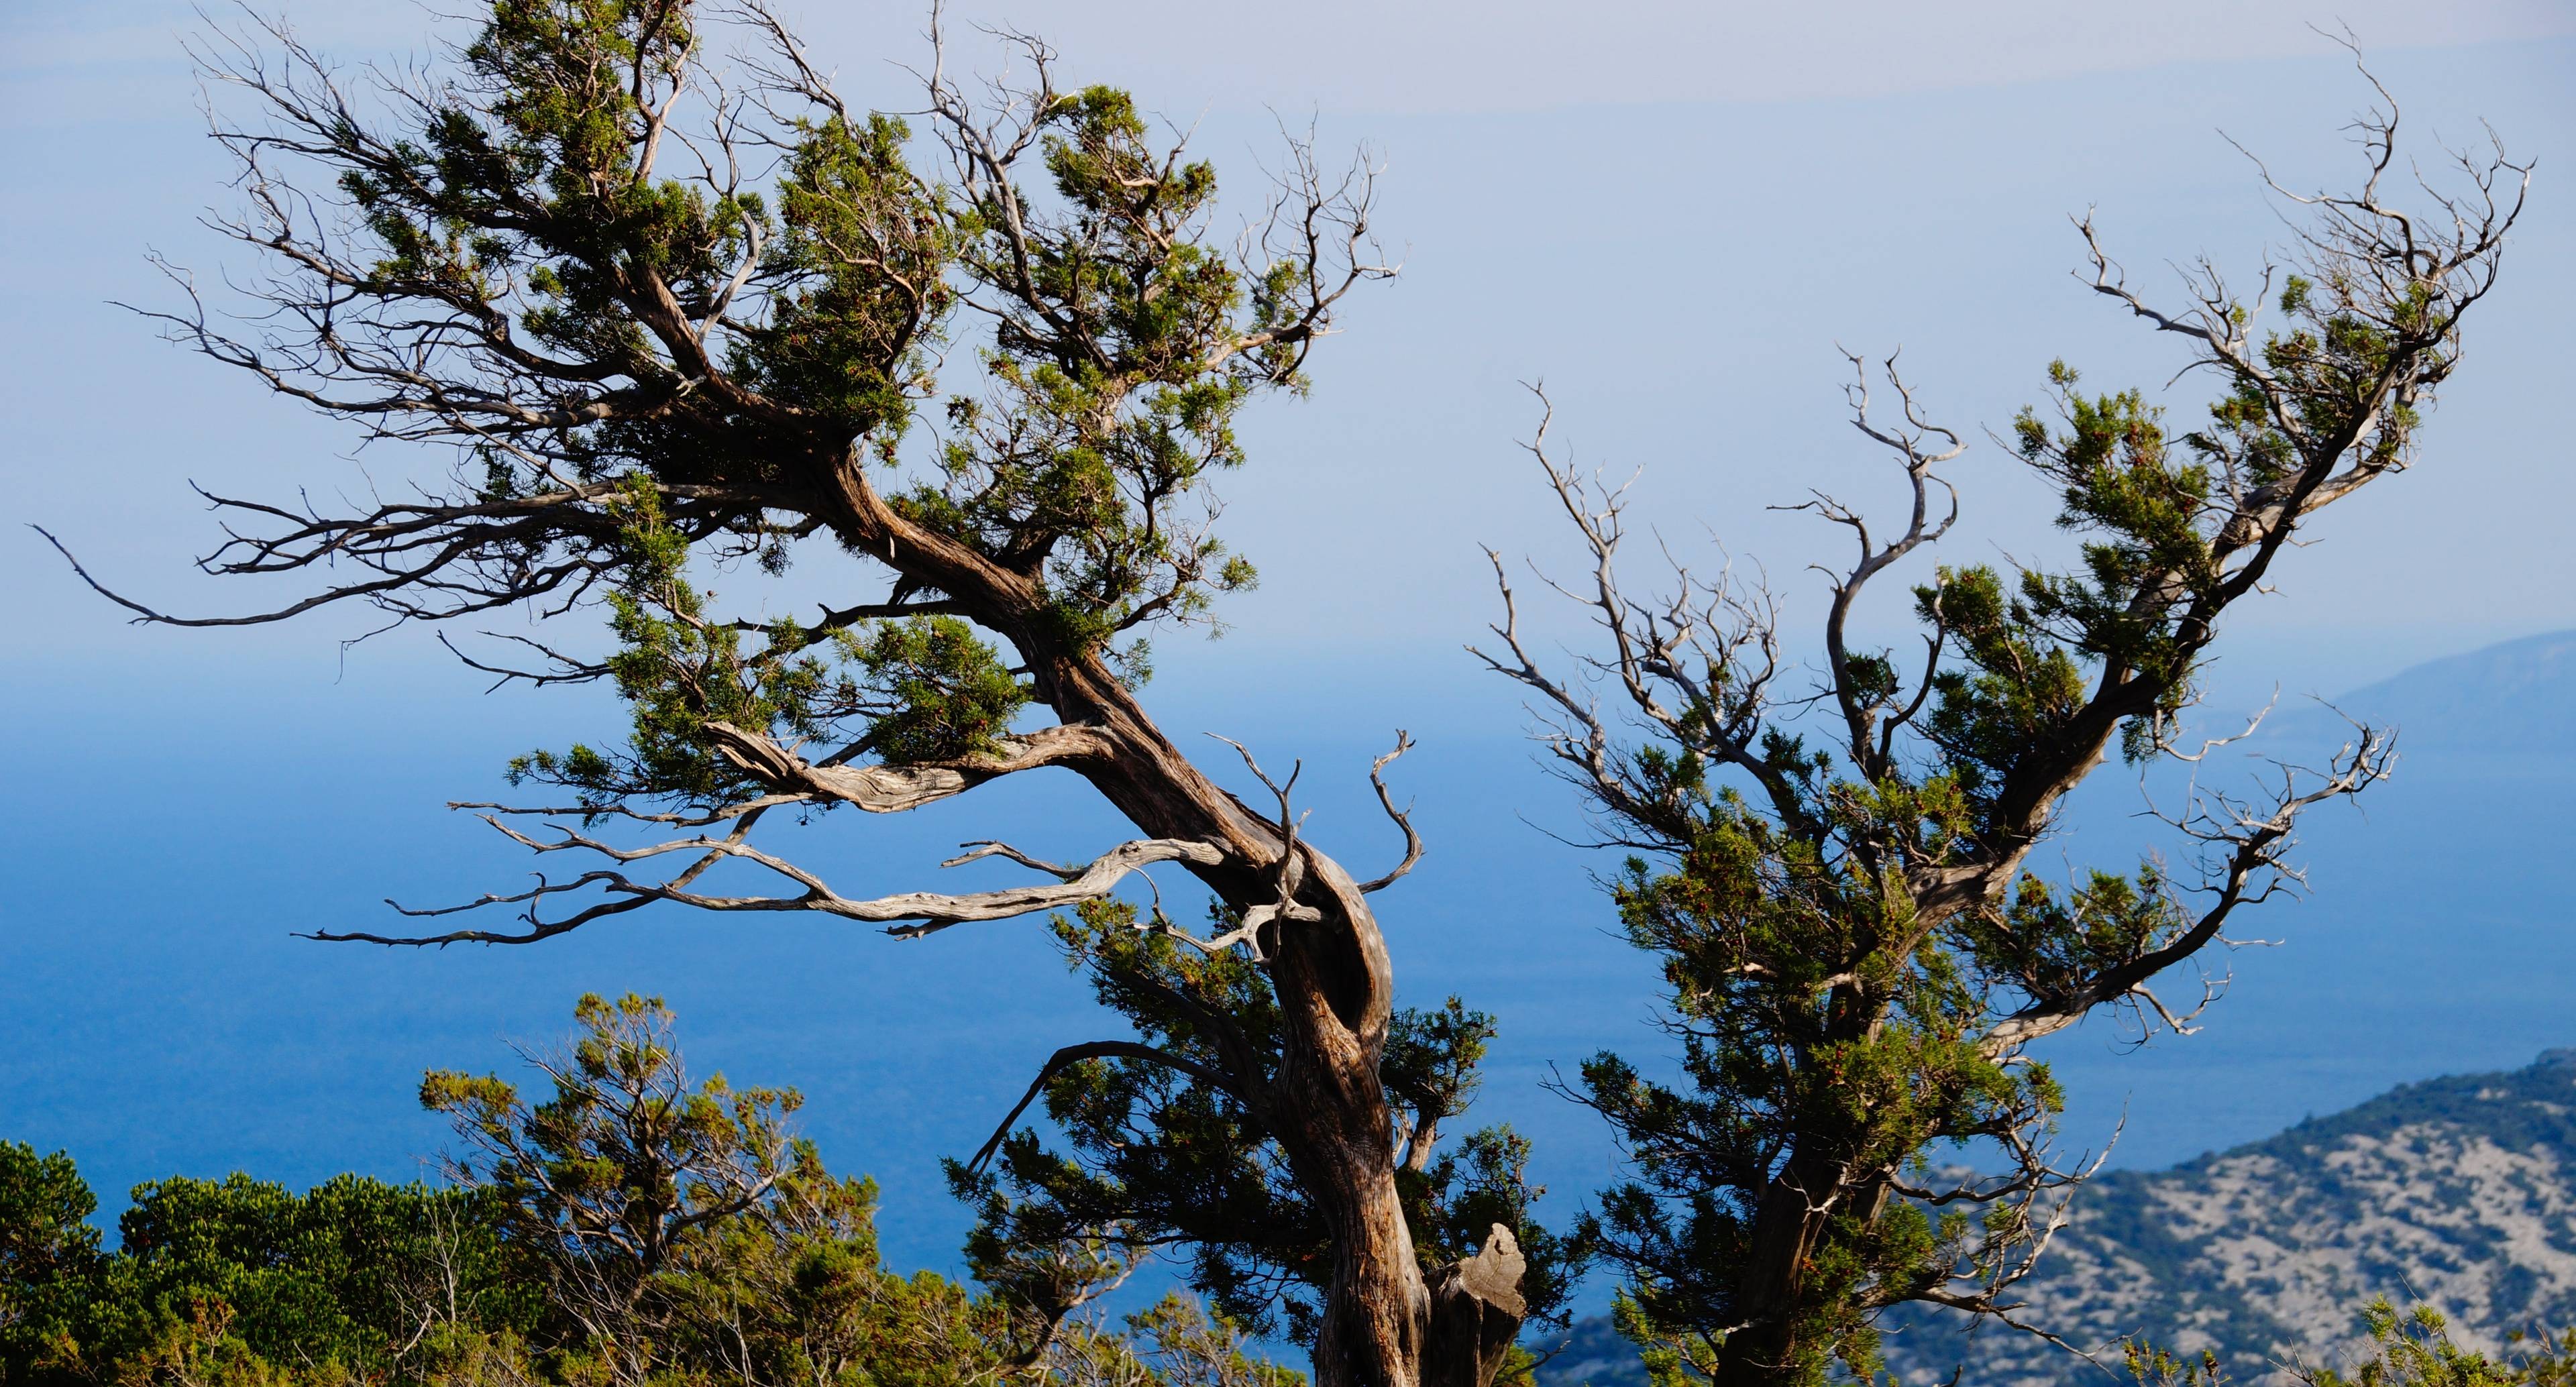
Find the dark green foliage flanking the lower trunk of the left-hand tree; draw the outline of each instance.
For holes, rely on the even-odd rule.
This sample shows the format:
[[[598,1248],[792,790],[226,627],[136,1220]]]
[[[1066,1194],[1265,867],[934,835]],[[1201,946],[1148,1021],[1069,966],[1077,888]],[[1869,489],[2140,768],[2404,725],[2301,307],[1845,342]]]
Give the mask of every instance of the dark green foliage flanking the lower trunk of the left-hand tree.
[[[1234,916],[1211,911],[1211,924],[1224,932]],[[1100,1001],[1157,1050],[1211,1073],[1242,1073],[1236,1052],[1255,1055],[1255,1070],[1275,1073],[1280,1016],[1257,960],[1203,952],[1123,901],[1059,916],[1056,939]],[[1497,1222],[1510,1227],[1530,1263],[1520,1287],[1530,1318],[1561,1323],[1574,1266],[1533,1217],[1543,1189],[1525,1173],[1528,1140],[1486,1127],[1435,1148],[1440,1122],[1473,1099],[1492,1034],[1492,1016],[1455,998],[1396,1014],[1381,1081],[1409,1145],[1399,1194],[1425,1269],[1471,1256]],[[1043,1099],[1061,1148],[1018,1130],[989,1168],[948,1168],[958,1197],[981,1212],[971,1243],[979,1279],[1061,1276],[1069,1248],[1133,1256],[1177,1243],[1190,1251],[1190,1287],[1229,1320],[1255,1333],[1314,1333],[1332,1276],[1329,1233],[1249,1104],[1208,1078],[1128,1058],[1066,1065]]]

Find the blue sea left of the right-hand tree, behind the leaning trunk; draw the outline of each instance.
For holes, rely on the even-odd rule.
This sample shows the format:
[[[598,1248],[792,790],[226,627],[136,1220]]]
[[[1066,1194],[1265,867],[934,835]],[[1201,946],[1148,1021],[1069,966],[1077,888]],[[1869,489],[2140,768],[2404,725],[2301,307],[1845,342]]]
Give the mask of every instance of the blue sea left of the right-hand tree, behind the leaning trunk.
[[[18,782],[44,795],[0,811],[0,1135],[70,1148],[111,1209],[121,1189],[165,1173],[412,1176],[443,1137],[412,1104],[422,1068],[510,1070],[507,1042],[564,1032],[580,991],[634,988],[677,1009],[693,1068],[806,1094],[804,1127],[835,1168],[884,1181],[889,1256],[953,1266],[963,1217],[938,1158],[974,1150],[1048,1050],[1121,1034],[1043,921],[891,942],[793,916],[647,911],[518,950],[294,939],[386,929],[384,896],[520,888],[533,862],[438,805],[502,793],[492,772],[510,751],[595,728],[559,700],[422,700],[404,692],[412,677],[358,669],[283,690],[211,677],[175,700],[8,690],[18,726],[49,733],[13,754]],[[149,736],[134,736],[139,710]],[[1206,726],[1278,762],[1303,754],[1309,831],[1373,875],[1401,847],[1365,798],[1394,723],[1365,736],[1298,723],[1273,708]],[[1600,932],[1574,854],[1512,818],[1515,805],[1551,808],[1522,744],[1417,736],[1422,749],[1391,775],[1419,798],[1432,847],[1378,898],[1406,996],[1458,991],[1502,1011],[1494,1114],[1546,1137],[1566,1191],[1597,1184],[1602,1153],[1577,1155],[1582,1125],[1535,1081],[1546,1060],[1623,1034],[1649,975]],[[775,841],[842,890],[873,893],[948,885],[935,862],[981,836],[1079,857],[1123,834],[1079,782],[1048,772],[912,816],[829,816]],[[951,875],[999,885],[1012,872],[987,862]],[[1188,890],[1177,872],[1167,885]]]

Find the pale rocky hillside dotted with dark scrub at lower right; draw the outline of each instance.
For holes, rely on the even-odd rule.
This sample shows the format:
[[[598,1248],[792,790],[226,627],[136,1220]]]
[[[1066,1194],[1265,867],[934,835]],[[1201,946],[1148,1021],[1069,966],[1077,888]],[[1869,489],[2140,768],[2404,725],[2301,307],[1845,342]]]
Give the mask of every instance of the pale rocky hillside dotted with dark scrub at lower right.
[[[2151,1341],[2231,1359],[2262,1382],[2285,1354],[2329,1354],[2375,1294],[2427,1300],[2463,1341],[2576,1325],[2576,1050],[2524,1070],[2409,1083],[2354,1109],[2087,1189],[2025,1284],[2030,1318],[2071,1343]],[[2058,1348],[1932,1315],[1888,1325],[1904,1382],[2110,1382]],[[2117,1351],[2112,1351],[2117,1361]],[[1548,1387],[1641,1384],[1607,1323],[1587,1323]]]

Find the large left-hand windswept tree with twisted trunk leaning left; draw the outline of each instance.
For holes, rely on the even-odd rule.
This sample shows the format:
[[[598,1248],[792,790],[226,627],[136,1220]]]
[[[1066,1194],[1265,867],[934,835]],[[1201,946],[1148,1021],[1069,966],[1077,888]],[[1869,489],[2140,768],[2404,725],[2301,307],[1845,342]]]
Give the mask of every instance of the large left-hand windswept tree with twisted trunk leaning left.
[[[1419,839],[1378,780],[1401,854],[1360,880],[1298,834],[1296,775],[1247,805],[1139,700],[1146,630],[1255,576],[1208,499],[1244,463],[1239,412],[1298,391],[1345,296],[1391,273],[1370,170],[1291,142],[1229,244],[1211,165],[1005,39],[1020,82],[969,93],[933,36],[922,131],[848,103],[760,0],[495,0],[446,62],[355,77],[278,26],[214,39],[245,198],[219,229],[268,275],[237,311],[175,275],[162,322],[379,455],[453,466],[350,510],[211,497],[206,571],[312,582],[276,610],[100,592],[167,625],[518,610],[538,633],[469,638],[469,664],[623,695],[623,739],[513,767],[554,803],[477,805],[582,862],[464,906],[515,924],[325,939],[533,944],[654,903],[904,939],[1074,911],[1064,944],[1139,1037],[1043,1065],[1074,1140],[961,1173],[989,1233],[1193,1248],[1229,1307],[1311,1330],[1324,1384],[1486,1382],[1548,1310],[1522,1287],[1556,1281],[1522,1279],[1533,1230],[1458,1233],[1525,1209],[1517,1148],[1432,1158],[1484,1032],[1396,1009],[1368,896]],[[853,587],[770,615],[760,582],[791,566]],[[605,654],[551,636],[600,615]],[[956,862],[1036,885],[884,898],[775,841],[1043,767],[1133,836],[1069,865],[971,844]],[[1151,865],[1206,885],[1211,932],[1110,903]]]

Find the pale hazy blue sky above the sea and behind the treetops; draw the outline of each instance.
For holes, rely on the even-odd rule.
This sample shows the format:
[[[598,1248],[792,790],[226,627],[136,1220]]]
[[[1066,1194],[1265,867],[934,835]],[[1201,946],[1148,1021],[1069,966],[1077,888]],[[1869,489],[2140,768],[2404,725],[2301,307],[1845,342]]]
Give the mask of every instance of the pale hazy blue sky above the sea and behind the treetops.
[[[1553,538],[1512,448],[1533,419],[1528,378],[1558,391],[1569,445],[1643,463],[1659,510],[1795,574],[1832,538],[1759,507],[1880,481],[1842,422],[1834,342],[1904,345],[1929,407],[1968,427],[2009,419],[2053,355],[2105,386],[2161,383],[2174,353],[2066,278],[2066,216],[2097,206],[2148,286],[2200,252],[2251,275],[2280,226],[2218,131],[2316,185],[2349,172],[2339,126],[2367,95],[2303,28],[2336,10],[2298,5],[1033,10],[966,18],[1054,33],[1077,80],[1133,82],[1242,185],[1275,144],[1260,103],[1314,111],[1327,147],[1365,142],[1386,165],[1381,224],[1406,275],[1355,304],[1350,335],[1316,358],[1316,396],[1265,409],[1260,463],[1226,481],[1229,530],[1270,576],[1236,602],[1226,664],[1355,643],[1376,664],[1471,628],[1476,543]],[[407,3],[294,13],[361,57],[417,49],[425,31]],[[817,51],[855,95],[909,103],[909,5],[814,13]],[[2300,630],[2324,687],[2576,620],[2576,558],[2558,543],[2576,476],[2548,425],[2576,304],[2576,219],[2548,183],[2576,131],[2576,5],[2339,13],[2378,44],[2416,134],[2473,139],[2491,118],[2540,157],[2543,183],[2427,471],[2336,515],[2334,543],[2251,618]],[[0,342],[0,401],[31,515],[147,592],[219,605],[240,597],[183,587],[178,558],[206,530],[180,481],[337,486],[348,440],[106,304],[160,301],[147,247],[209,278],[224,265],[191,221],[222,201],[224,165],[198,139],[185,23],[178,5],[0,18],[0,301],[41,324]],[[2174,399],[2192,409],[2197,394]],[[1953,551],[1991,553],[1991,535],[2025,533],[2045,507],[1994,450],[1958,476],[1971,515]],[[126,502],[113,522],[93,512],[103,481]],[[0,582],[26,594],[13,620],[54,648],[149,661],[175,638],[98,623],[26,538],[0,543]],[[1388,602],[1394,589],[1406,600]],[[188,648],[335,659],[314,628]]]

